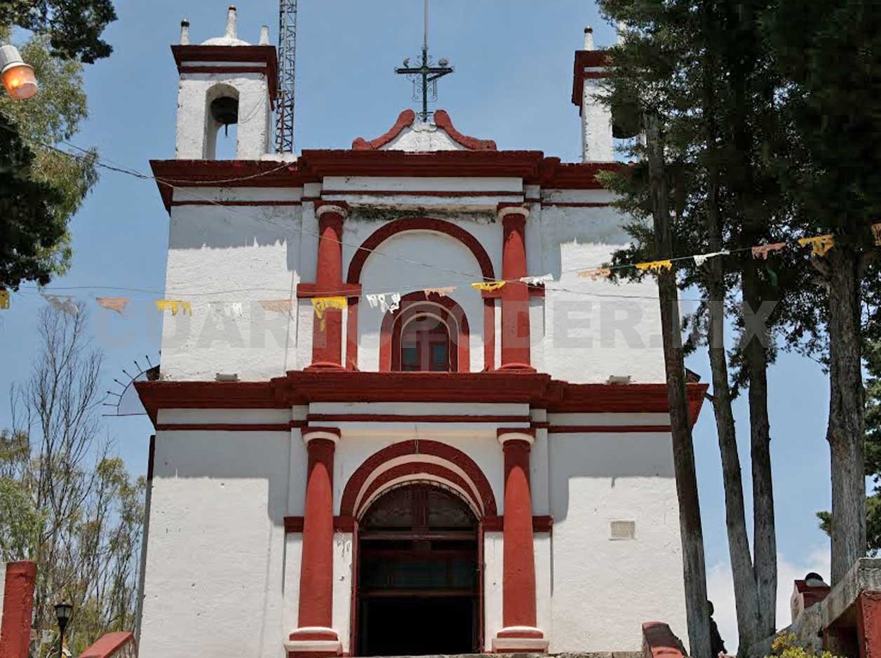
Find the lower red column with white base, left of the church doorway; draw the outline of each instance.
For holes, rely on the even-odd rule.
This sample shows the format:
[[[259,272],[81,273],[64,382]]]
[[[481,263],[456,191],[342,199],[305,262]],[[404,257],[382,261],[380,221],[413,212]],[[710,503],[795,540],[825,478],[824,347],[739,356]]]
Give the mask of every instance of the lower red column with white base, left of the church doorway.
[[[303,431],[309,455],[298,628],[285,643],[288,653],[338,655],[333,623],[333,457],[339,430]]]

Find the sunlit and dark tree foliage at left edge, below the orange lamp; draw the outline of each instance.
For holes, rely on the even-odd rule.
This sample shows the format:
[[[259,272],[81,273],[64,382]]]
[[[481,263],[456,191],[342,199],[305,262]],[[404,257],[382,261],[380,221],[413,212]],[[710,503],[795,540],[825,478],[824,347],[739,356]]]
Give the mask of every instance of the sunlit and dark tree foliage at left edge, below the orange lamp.
[[[48,284],[70,265],[68,224],[98,180],[96,152],[56,151],[86,117],[82,64],[52,56],[47,37],[22,48],[40,81],[30,100],[0,95],[0,288]]]

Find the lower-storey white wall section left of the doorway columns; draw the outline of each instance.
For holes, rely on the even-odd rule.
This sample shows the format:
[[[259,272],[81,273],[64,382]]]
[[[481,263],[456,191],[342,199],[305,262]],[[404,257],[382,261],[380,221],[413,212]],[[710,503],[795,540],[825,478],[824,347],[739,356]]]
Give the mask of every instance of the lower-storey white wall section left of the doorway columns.
[[[289,433],[157,432],[139,653],[279,658]]]

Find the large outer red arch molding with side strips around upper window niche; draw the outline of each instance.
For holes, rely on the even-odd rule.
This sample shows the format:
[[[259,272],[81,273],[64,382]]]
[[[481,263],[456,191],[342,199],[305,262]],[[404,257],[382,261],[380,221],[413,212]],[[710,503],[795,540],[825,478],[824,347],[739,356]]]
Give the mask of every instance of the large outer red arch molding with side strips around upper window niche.
[[[481,276],[485,281],[495,280],[495,270],[492,268],[492,260],[480,241],[461,226],[457,226],[443,219],[427,217],[396,219],[376,229],[359,247],[349,263],[349,273],[346,282],[359,284],[361,272],[367,257],[375,248],[389,240],[397,233],[406,231],[433,231],[443,233],[454,240],[461,242],[474,255],[480,266]],[[349,299],[346,321],[345,364],[348,370],[358,369],[358,301],[357,298]],[[460,354],[461,356],[461,354]],[[460,361],[460,364],[462,362]],[[495,302],[493,299],[484,299],[484,370],[494,370],[495,363]],[[460,366],[460,372],[461,370]]]

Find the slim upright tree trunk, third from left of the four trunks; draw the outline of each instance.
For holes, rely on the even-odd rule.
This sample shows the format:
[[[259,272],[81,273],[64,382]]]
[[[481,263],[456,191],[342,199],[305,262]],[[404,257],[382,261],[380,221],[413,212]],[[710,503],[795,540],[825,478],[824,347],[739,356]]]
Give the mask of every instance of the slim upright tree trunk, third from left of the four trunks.
[[[761,291],[758,261],[746,262],[743,274],[744,303],[760,316],[761,330],[744,348],[750,381],[750,448],[752,462],[752,542],[756,585],[759,592],[759,639],[776,632],[777,536],[774,528],[774,483],[771,476],[771,423],[768,419],[767,344],[764,314],[759,309],[766,296]]]

